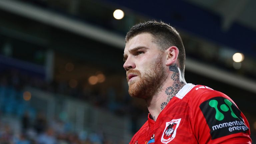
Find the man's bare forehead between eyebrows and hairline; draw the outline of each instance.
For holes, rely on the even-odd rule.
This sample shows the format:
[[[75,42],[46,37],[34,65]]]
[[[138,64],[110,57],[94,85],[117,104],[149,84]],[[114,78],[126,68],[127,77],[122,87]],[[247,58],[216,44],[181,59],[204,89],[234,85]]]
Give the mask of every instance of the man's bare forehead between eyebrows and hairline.
[[[125,45],[124,53],[136,47],[156,48],[156,43],[153,42],[153,37],[150,33],[141,33],[129,39]]]

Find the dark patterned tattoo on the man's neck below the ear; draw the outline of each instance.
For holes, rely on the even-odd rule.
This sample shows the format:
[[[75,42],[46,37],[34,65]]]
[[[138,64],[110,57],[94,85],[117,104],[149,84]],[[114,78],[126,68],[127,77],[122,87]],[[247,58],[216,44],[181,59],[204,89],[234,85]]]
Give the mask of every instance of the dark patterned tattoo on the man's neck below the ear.
[[[174,81],[173,85],[167,87],[165,94],[168,96],[166,102],[161,104],[161,110],[163,110],[168,102],[176,95],[176,93],[184,86],[183,82],[180,82],[180,74],[176,64],[169,66],[169,70],[173,72],[171,79]]]

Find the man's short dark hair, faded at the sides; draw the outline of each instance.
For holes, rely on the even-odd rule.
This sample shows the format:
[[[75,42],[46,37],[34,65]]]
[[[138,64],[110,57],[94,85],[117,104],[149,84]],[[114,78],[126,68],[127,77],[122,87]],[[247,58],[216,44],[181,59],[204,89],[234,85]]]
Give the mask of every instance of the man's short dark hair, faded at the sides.
[[[155,43],[160,46],[160,50],[166,50],[171,46],[179,49],[178,61],[181,74],[184,76],[185,71],[185,49],[182,39],[174,27],[160,21],[147,21],[134,25],[125,37],[125,43],[129,39],[141,33],[150,33],[155,39]]]

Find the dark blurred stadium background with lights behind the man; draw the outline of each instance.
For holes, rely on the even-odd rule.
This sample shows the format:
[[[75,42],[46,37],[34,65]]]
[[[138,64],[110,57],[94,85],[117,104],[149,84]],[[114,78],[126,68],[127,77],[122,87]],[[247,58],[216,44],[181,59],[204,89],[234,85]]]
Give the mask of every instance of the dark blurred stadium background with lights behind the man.
[[[256,142],[255,7],[254,0],[0,0],[0,143],[128,143],[148,110],[128,94],[124,37],[152,19],[179,31],[186,81],[232,98]]]

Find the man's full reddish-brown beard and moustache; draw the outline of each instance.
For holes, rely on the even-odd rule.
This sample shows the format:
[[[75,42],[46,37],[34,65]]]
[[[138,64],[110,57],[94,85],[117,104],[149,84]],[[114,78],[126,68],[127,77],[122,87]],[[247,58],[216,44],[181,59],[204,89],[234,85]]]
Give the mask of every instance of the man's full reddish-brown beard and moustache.
[[[128,75],[132,73],[139,77],[129,83]],[[162,64],[162,54],[159,54],[155,63],[145,73],[139,70],[130,69],[127,73],[127,82],[129,85],[129,94],[131,97],[150,99],[156,93],[160,92],[164,81],[167,78],[164,66]]]

